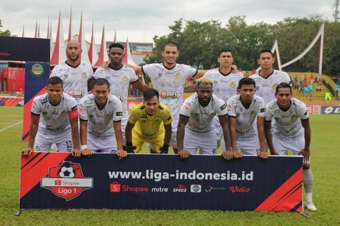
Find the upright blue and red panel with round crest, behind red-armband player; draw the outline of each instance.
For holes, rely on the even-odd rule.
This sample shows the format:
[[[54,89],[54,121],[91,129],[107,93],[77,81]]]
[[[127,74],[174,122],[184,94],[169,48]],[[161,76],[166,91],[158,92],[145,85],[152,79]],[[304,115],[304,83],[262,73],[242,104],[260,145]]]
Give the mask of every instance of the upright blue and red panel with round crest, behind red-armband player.
[[[28,140],[31,123],[31,107],[35,96],[44,94],[49,79],[49,63],[26,62],[25,65],[25,101],[22,140]]]

